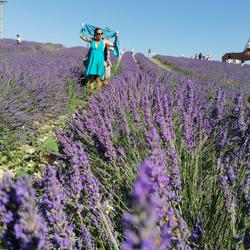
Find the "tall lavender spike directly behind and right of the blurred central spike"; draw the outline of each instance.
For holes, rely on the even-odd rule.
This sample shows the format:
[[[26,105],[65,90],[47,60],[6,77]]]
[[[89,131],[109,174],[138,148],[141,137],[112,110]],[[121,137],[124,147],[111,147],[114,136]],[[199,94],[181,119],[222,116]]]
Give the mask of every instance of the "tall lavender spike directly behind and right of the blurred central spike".
[[[186,245],[188,230],[181,216],[172,208],[172,202],[180,197],[170,182],[165,152],[160,147],[159,135],[155,128],[151,129],[146,141],[150,147],[147,174],[152,183],[152,196],[158,201],[158,217],[160,228],[165,235],[171,235],[172,246]],[[168,240],[169,240],[168,238]],[[164,241],[164,239],[163,239]]]

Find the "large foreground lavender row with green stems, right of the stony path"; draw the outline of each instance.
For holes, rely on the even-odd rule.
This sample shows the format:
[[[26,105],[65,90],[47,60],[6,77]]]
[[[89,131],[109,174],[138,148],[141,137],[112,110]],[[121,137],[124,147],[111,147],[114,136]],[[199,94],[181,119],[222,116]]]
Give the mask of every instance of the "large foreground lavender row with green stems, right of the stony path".
[[[212,82],[158,77],[156,65],[136,60],[141,70],[126,53],[123,73],[57,132],[58,159],[33,187],[4,177],[10,249],[249,247],[249,109],[240,91],[215,86],[211,95]]]

